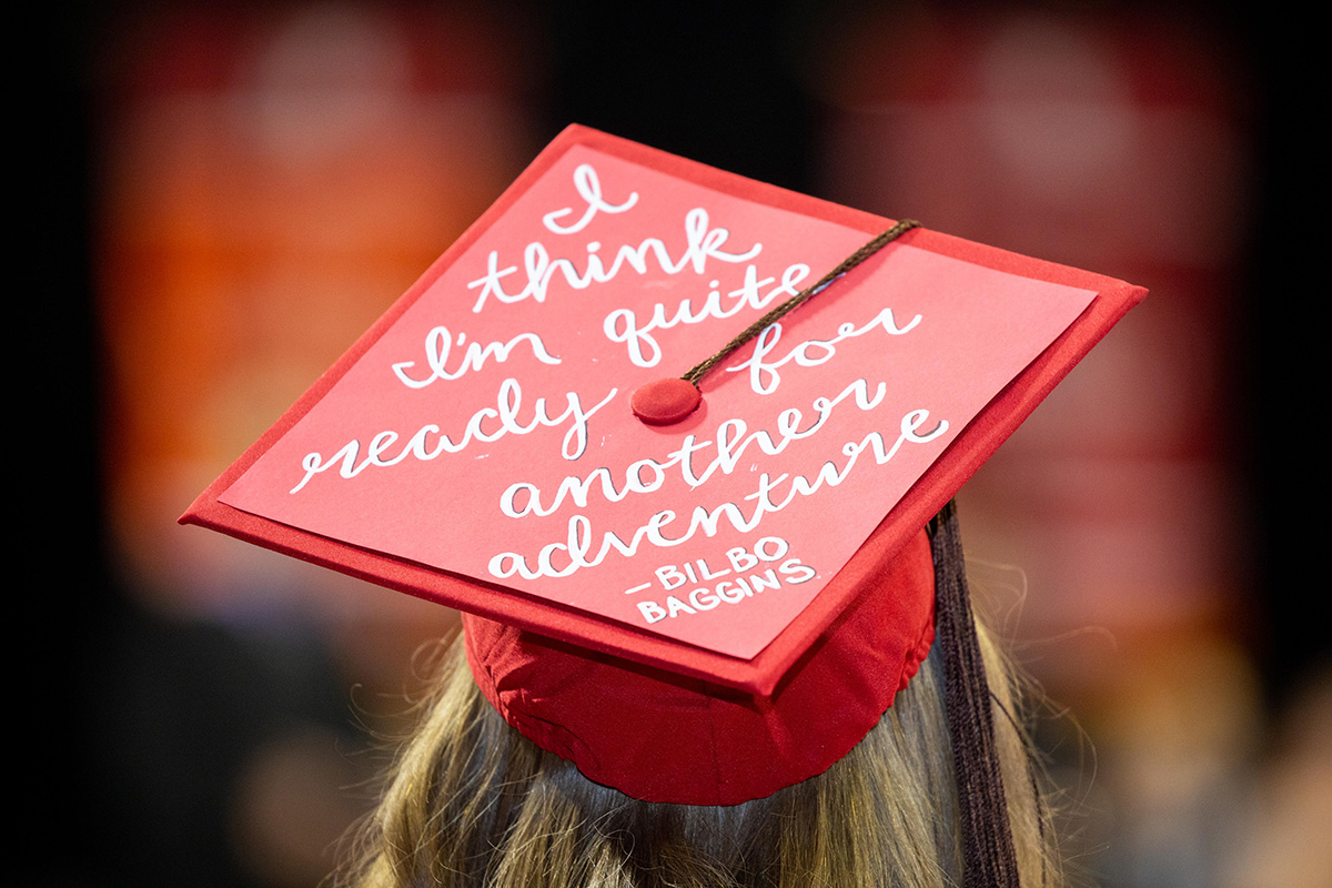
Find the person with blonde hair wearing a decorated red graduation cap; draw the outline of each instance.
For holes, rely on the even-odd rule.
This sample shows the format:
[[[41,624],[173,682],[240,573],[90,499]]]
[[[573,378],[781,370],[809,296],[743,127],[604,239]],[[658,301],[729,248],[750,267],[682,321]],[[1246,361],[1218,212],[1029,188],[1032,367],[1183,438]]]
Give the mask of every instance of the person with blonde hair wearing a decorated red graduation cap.
[[[464,612],[368,884],[1051,881],[948,503],[1146,290],[883,224],[571,126],[182,517]]]

